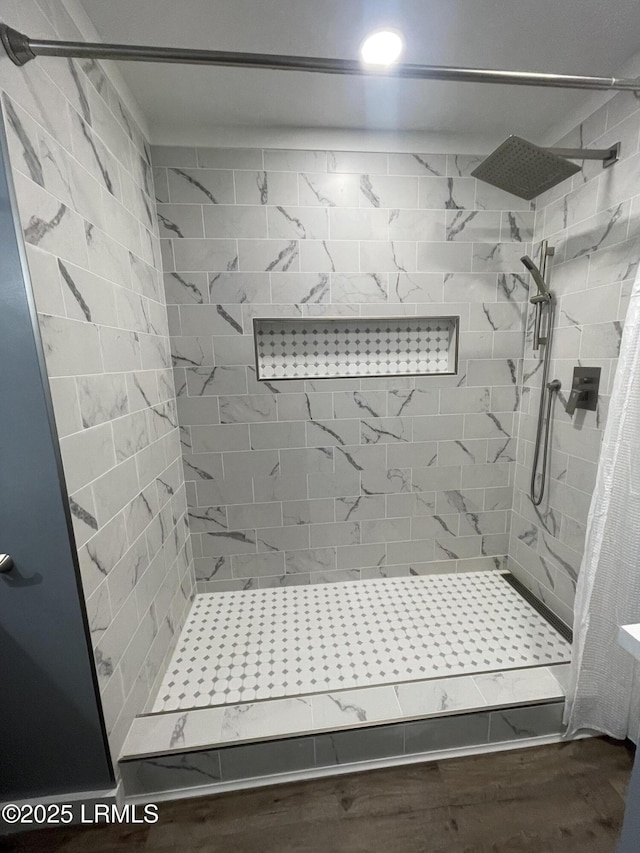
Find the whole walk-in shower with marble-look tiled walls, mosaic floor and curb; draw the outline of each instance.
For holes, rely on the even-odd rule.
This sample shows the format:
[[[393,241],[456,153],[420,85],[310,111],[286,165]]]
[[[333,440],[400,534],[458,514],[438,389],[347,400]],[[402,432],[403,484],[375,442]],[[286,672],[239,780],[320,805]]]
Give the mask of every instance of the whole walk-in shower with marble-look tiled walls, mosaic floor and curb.
[[[3,108],[125,790],[559,737],[603,413],[551,401],[614,364],[635,160],[534,209],[455,151],[151,146],[51,30]]]

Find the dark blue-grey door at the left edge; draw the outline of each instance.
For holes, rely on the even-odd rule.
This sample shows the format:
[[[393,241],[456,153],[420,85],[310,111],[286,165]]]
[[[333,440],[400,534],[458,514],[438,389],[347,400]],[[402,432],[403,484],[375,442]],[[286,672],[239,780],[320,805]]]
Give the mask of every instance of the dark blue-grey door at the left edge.
[[[0,121],[0,800],[113,785]]]

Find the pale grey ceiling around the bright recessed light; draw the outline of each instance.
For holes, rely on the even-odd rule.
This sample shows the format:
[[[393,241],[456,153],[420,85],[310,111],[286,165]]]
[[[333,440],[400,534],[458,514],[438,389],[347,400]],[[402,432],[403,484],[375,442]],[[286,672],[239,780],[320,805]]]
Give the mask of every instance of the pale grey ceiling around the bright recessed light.
[[[407,62],[612,75],[640,47],[638,0],[82,0],[104,41],[357,58],[392,25]],[[155,142],[216,128],[421,131],[542,141],[589,93],[119,63]]]

